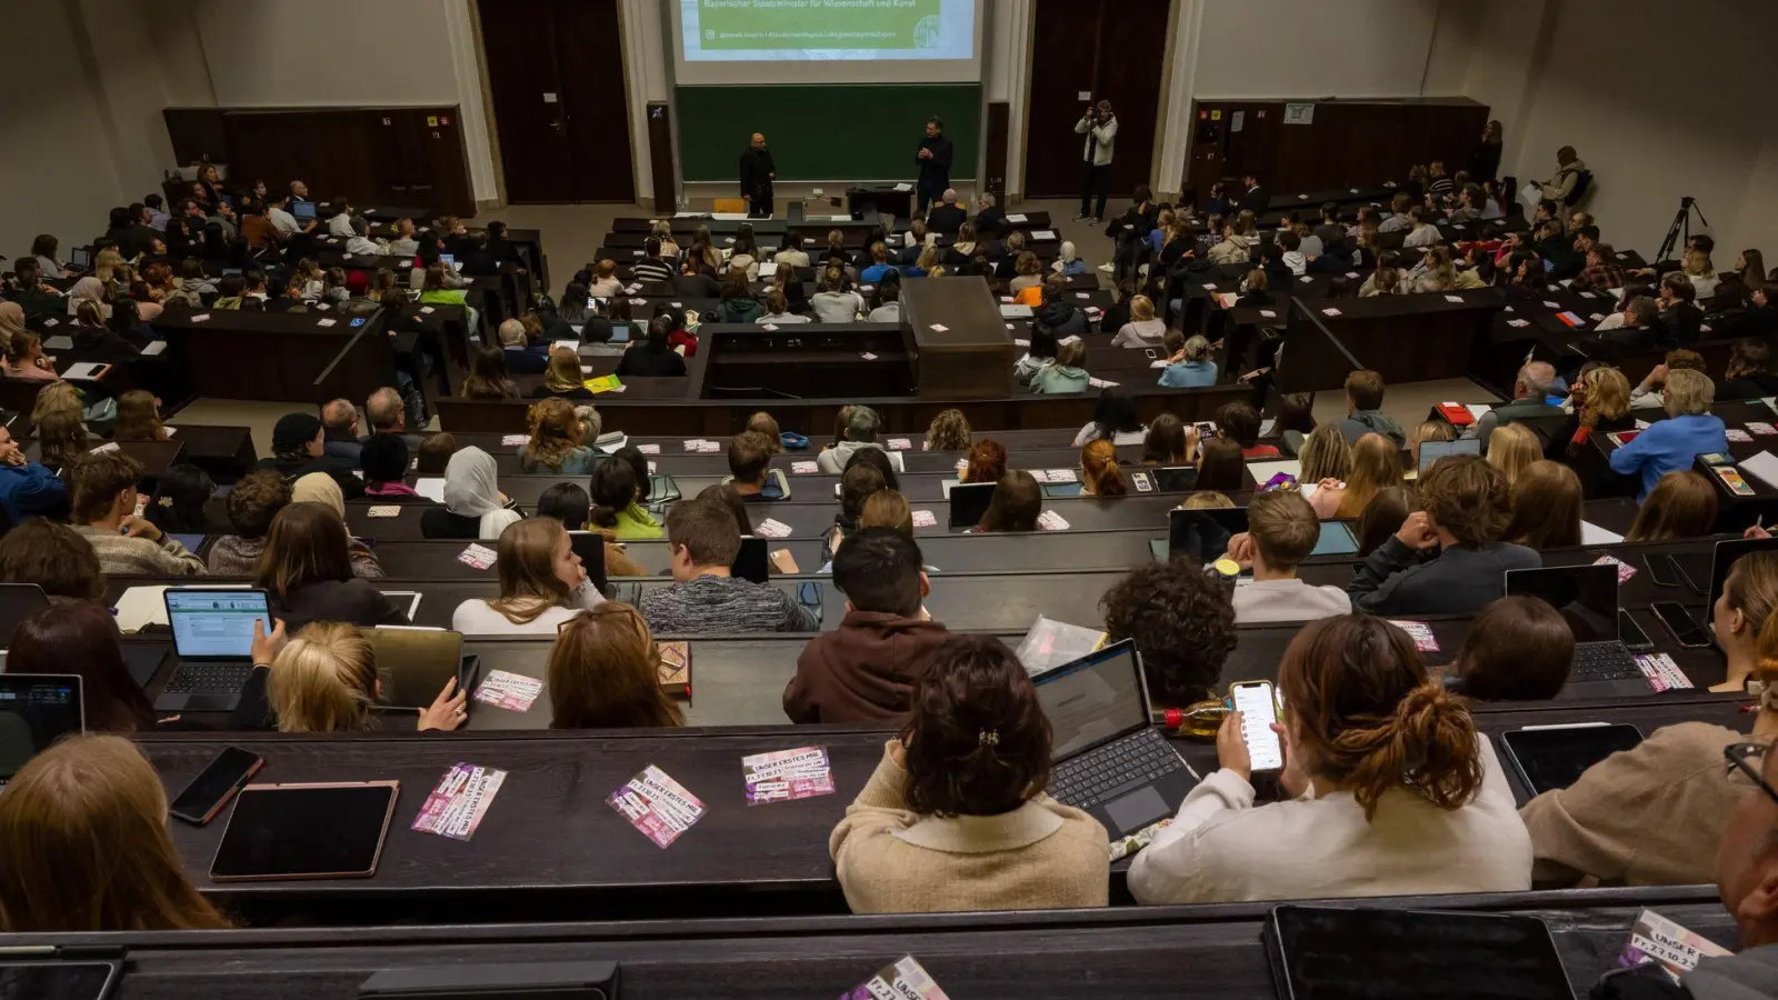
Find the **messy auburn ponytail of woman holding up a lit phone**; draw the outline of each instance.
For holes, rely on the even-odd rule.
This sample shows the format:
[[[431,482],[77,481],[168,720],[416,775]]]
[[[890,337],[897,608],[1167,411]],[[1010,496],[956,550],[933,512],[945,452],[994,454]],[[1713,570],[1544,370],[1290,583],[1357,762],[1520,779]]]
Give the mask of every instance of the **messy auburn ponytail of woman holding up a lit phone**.
[[[1444,685],[1422,683],[1401,699],[1394,717],[1364,722],[1371,724],[1330,740],[1328,770],[1344,770],[1341,783],[1364,806],[1366,820],[1376,817],[1385,792],[1403,785],[1440,810],[1456,810],[1481,790],[1476,722]]]

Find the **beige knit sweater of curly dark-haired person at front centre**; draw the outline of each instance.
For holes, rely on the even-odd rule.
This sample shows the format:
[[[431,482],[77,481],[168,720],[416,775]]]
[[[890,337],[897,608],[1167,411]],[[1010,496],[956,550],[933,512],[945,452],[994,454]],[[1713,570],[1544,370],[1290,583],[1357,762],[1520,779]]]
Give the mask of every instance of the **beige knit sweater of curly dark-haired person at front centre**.
[[[1042,794],[997,817],[923,817],[907,810],[907,770],[889,746],[829,838],[853,913],[1106,906],[1099,820]]]

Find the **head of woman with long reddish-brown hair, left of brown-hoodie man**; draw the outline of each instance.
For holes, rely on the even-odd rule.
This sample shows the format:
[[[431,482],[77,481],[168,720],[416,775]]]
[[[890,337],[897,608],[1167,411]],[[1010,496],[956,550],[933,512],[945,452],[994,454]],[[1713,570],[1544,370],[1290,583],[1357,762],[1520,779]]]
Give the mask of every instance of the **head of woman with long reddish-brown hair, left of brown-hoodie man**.
[[[685,726],[660,685],[661,653],[637,609],[608,601],[574,614],[549,649],[551,730]]]

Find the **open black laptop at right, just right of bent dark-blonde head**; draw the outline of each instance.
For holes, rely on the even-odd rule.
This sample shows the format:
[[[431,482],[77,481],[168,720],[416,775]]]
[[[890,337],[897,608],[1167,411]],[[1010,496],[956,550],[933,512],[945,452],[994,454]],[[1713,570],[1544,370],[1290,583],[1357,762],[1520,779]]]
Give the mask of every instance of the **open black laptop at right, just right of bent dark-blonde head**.
[[[1618,639],[1618,568],[1611,562],[1508,569],[1506,596],[1543,598],[1574,632],[1574,665],[1563,698],[1632,698],[1654,690]]]

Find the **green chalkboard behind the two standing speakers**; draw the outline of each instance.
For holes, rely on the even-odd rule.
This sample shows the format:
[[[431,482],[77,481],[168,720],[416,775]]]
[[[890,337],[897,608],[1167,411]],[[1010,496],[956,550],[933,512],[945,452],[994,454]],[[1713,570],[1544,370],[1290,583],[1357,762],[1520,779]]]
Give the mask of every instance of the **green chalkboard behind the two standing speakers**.
[[[736,180],[754,132],[765,132],[779,180],[914,180],[932,116],[957,144],[951,178],[976,173],[980,84],[676,87],[674,103],[688,181]]]

